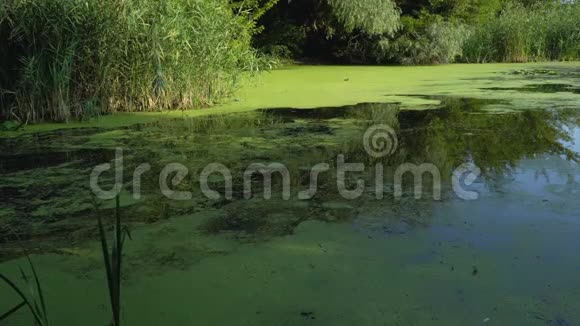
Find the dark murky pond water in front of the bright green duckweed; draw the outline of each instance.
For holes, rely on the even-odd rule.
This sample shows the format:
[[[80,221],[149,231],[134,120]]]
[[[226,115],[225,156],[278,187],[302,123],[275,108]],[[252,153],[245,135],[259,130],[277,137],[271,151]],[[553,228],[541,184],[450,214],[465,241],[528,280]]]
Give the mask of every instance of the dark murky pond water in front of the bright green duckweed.
[[[0,272],[18,275],[32,254],[54,324],[106,325],[96,216],[110,221],[114,203],[89,178],[122,161],[127,325],[580,323],[580,80],[570,71],[487,76],[473,97],[408,89],[384,103],[0,139]],[[388,137],[373,143],[377,126]],[[341,176],[342,161],[364,169]],[[169,188],[183,200],[160,188],[175,163],[188,173],[169,174]],[[202,177],[216,163],[231,187],[220,173]],[[264,178],[245,172],[272,163],[287,178],[273,173],[266,199]],[[316,192],[302,198],[320,164]],[[409,164],[428,164],[420,196],[412,174],[397,178]],[[110,189],[114,169],[99,180]],[[17,303],[2,286],[0,312]]]

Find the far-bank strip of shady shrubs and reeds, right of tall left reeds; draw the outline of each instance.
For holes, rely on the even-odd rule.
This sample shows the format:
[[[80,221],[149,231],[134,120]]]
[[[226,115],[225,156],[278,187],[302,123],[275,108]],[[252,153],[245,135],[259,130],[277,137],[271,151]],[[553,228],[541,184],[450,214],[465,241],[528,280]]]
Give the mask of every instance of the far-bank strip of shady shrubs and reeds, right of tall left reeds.
[[[347,63],[527,62],[580,58],[580,4],[559,0],[331,0],[279,2],[256,45],[276,55]],[[383,29],[372,28],[376,11]],[[379,4],[380,3],[380,4]],[[378,9],[385,8],[385,9]],[[400,13],[400,19],[397,19]],[[370,24],[370,26],[369,26]]]

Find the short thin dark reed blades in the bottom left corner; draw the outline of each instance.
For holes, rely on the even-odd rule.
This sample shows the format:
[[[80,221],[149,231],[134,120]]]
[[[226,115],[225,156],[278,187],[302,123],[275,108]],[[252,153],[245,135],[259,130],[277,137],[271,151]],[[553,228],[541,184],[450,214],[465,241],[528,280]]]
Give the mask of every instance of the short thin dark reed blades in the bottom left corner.
[[[10,288],[12,288],[12,290],[14,290],[14,292],[16,292],[16,294],[18,294],[18,296],[22,300],[22,302],[14,306],[14,308],[10,309],[3,315],[0,315],[0,322],[10,317],[20,309],[28,307],[28,309],[32,313],[32,316],[34,317],[36,324],[40,326],[46,326],[49,323],[48,323],[48,315],[46,313],[46,303],[44,301],[44,295],[42,292],[42,286],[40,285],[38,273],[34,268],[32,260],[30,260],[30,257],[28,256],[26,256],[26,259],[28,260],[28,264],[30,265],[32,276],[34,277],[33,280],[29,279],[28,276],[26,276],[24,270],[20,268],[20,275],[24,280],[24,282],[26,283],[26,286],[28,287],[30,292],[28,295],[25,293],[25,290],[16,285],[16,283],[10,280],[7,276],[0,273],[0,280],[4,281],[4,283],[6,283]]]

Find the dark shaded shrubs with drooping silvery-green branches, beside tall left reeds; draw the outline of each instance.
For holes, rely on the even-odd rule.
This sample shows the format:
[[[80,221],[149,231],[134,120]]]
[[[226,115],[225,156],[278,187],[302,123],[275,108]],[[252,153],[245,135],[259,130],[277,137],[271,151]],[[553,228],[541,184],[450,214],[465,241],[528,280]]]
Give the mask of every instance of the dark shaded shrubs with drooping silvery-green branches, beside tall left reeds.
[[[260,20],[266,29],[256,46],[297,57],[366,60],[368,41],[394,34],[399,17],[391,0],[280,1]]]

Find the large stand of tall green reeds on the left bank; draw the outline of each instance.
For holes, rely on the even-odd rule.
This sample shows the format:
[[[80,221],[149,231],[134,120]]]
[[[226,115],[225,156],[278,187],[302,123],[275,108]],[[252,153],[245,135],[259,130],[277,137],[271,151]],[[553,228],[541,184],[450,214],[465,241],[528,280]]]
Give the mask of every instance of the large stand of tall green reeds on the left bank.
[[[227,0],[7,0],[0,115],[66,121],[212,104],[257,69],[253,28]]]

